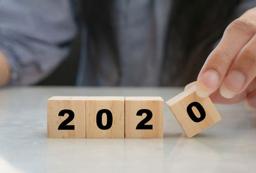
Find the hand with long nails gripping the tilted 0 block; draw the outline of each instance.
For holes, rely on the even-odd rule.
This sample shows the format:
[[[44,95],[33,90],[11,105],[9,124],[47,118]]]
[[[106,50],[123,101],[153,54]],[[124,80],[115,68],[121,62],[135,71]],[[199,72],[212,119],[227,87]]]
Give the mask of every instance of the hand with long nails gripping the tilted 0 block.
[[[198,96],[212,102],[247,100],[256,109],[256,8],[246,11],[225,30],[197,79]]]

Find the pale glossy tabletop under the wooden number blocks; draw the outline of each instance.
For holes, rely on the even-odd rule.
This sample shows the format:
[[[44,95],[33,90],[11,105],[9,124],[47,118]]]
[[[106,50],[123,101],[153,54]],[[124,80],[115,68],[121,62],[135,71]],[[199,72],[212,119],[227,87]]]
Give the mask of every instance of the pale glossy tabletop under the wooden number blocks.
[[[256,114],[216,105],[222,120],[188,139],[164,105],[163,139],[47,139],[46,101],[162,96],[171,87],[10,87],[0,91],[0,172],[256,172]]]

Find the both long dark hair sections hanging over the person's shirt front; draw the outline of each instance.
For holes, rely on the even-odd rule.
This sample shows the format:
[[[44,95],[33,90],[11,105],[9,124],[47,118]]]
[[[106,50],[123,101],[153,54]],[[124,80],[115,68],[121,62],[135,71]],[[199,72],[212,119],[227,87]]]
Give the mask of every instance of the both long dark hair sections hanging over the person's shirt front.
[[[183,86],[196,80],[200,68],[221,37],[239,0],[173,0],[166,40],[164,61],[159,79],[163,86]],[[113,28],[112,13],[115,1],[81,0],[83,24],[88,31],[88,54],[95,69],[100,50],[108,48],[122,77],[120,59]],[[116,82],[116,85],[119,81]]]

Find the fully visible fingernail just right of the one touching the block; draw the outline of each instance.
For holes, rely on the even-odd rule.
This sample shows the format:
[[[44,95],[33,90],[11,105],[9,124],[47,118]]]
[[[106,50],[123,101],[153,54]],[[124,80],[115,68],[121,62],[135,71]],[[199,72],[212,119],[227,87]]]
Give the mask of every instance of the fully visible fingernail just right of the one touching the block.
[[[220,94],[225,98],[232,98],[243,87],[244,82],[245,77],[243,73],[231,71],[220,86]]]

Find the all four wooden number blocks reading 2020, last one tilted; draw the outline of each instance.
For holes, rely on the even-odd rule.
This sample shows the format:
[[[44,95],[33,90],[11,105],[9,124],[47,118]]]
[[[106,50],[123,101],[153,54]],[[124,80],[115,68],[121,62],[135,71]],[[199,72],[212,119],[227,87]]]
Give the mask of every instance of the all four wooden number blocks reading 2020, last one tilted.
[[[196,86],[168,100],[187,137],[193,137],[221,117],[209,97]],[[47,102],[47,137],[163,138],[161,97],[54,96]]]

